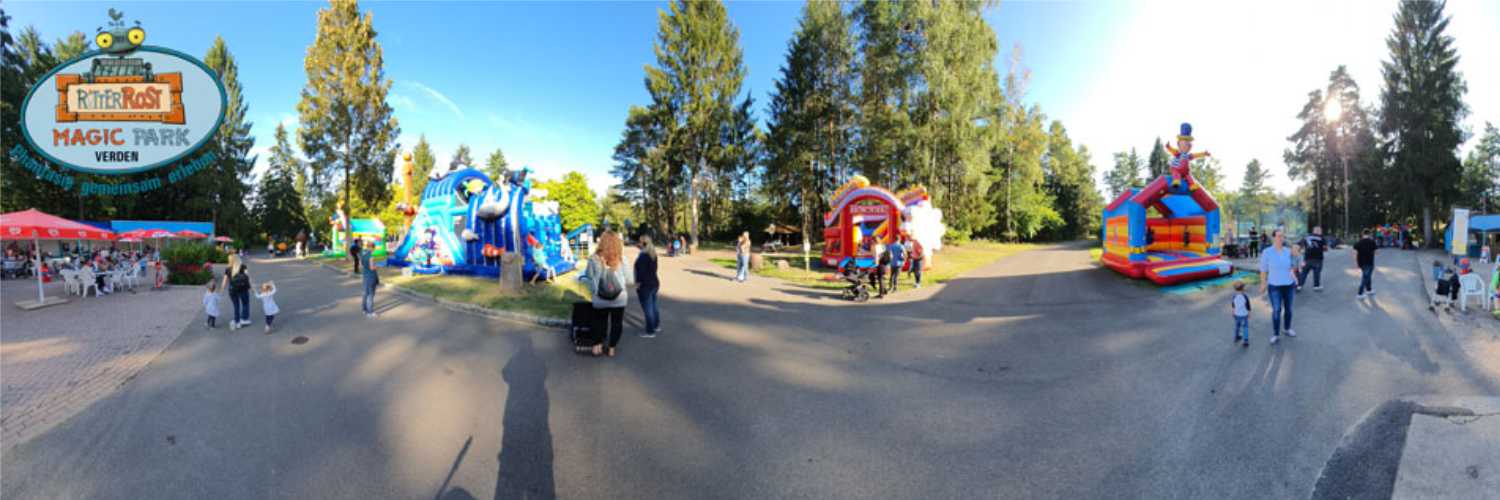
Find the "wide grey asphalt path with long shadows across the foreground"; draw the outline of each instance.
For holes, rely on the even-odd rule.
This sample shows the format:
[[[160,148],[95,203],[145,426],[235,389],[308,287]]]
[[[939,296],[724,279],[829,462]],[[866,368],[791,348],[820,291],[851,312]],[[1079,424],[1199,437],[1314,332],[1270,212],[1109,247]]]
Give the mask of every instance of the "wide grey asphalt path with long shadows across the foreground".
[[[1356,302],[1334,255],[1299,336],[1266,344],[1257,297],[1246,350],[1227,290],[1168,296],[1086,246],[860,305],[663,258],[664,333],[592,359],[402,296],[366,320],[356,278],[252,261],[279,332],[189,327],[0,458],[0,497],[1305,498],[1371,408],[1500,395],[1413,269]]]

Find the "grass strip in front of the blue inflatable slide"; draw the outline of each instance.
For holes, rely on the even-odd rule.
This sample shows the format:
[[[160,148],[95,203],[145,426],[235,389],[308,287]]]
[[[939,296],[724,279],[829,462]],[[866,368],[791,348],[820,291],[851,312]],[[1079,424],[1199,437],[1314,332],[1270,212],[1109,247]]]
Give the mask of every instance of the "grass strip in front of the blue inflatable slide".
[[[344,272],[352,270],[346,257],[324,258],[322,261],[338,266]],[[573,302],[588,300],[588,288],[574,279],[578,272],[560,275],[552,284],[526,284],[518,294],[502,294],[500,284],[492,278],[476,278],[464,275],[411,275],[402,276],[400,267],[376,267],[384,284],[398,285],[411,291],[430,294],[435,297],[472,303],[496,311],[514,311],[546,318],[567,320],[573,311]]]

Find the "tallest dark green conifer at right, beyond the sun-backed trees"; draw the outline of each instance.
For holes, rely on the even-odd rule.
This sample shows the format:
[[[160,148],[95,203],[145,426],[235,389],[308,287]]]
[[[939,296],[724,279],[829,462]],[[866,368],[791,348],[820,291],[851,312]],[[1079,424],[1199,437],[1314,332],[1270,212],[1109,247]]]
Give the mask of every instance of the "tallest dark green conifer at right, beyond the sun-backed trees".
[[[1458,74],[1458,51],[1446,35],[1446,2],[1401,0],[1395,29],[1386,38],[1390,60],[1380,65],[1380,134],[1392,176],[1398,215],[1422,215],[1422,240],[1432,239],[1432,213],[1448,210],[1458,195],[1464,143],[1460,122],[1468,114]]]

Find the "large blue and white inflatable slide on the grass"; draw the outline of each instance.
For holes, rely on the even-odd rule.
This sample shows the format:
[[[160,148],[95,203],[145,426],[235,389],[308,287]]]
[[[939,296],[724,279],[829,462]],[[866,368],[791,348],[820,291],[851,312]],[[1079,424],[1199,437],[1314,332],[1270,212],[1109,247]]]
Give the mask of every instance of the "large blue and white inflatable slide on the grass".
[[[530,170],[494,182],[474,168],[459,168],[428,183],[411,228],[388,264],[417,273],[500,276],[500,257],[520,252],[522,276],[538,266],[531,245],[542,243],[548,266],[566,273],[576,266],[562,237],[556,201],[531,191]]]

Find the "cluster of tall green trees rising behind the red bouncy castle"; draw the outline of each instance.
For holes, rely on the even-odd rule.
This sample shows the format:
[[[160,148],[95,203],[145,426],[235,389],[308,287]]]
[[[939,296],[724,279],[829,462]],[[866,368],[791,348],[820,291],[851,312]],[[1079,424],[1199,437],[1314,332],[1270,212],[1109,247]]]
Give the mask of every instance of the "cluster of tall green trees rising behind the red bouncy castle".
[[[807,2],[760,129],[723,3],[672,2],[645,68],[651,99],[615,147],[618,201],[694,242],[768,222],[818,234],[828,195],[861,174],[927,186],[954,239],[1094,234],[1089,150],[1023,102],[1018,50],[1002,80],[992,8]]]

